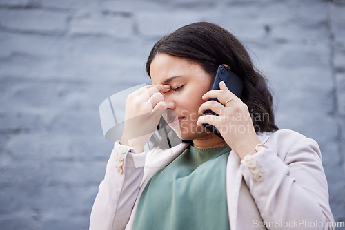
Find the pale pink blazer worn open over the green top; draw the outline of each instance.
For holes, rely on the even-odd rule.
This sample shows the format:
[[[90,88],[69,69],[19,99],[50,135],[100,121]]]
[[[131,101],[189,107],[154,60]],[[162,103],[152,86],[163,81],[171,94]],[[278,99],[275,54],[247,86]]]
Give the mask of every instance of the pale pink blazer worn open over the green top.
[[[234,151],[228,156],[226,194],[231,230],[333,229],[327,227],[334,220],[315,140],[290,130],[258,137],[268,146],[253,155],[262,180],[250,170],[253,165],[249,167]],[[137,154],[131,147],[115,143],[92,207],[90,229],[132,229],[144,187],[186,147],[187,143],[181,143],[172,149]]]

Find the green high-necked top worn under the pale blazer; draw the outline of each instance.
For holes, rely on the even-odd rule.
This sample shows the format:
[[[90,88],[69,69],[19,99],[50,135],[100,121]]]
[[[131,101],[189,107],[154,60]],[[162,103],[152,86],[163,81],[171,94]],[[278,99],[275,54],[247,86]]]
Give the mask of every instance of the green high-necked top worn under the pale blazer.
[[[139,200],[134,229],[230,229],[226,202],[228,145],[188,147],[152,176]]]

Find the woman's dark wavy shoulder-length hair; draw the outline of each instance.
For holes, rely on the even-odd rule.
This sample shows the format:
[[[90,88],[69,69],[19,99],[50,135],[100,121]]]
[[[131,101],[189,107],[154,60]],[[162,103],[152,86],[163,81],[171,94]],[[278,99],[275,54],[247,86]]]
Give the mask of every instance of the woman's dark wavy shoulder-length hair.
[[[277,131],[266,78],[255,69],[246,48],[233,34],[213,23],[185,25],[153,46],[146,62],[148,76],[152,60],[161,53],[195,61],[212,76],[219,65],[227,64],[244,81],[241,99],[248,106],[255,132]]]

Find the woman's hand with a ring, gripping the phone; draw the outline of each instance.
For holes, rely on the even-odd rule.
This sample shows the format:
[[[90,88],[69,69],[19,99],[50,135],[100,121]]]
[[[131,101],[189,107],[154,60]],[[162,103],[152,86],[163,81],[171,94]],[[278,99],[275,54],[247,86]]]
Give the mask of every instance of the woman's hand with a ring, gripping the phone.
[[[206,102],[202,103],[199,108],[200,114],[211,109],[219,116],[200,116],[197,125],[208,123],[217,127],[226,143],[243,159],[261,142],[255,133],[248,106],[228,90],[223,81],[219,83],[219,89],[210,90],[204,94],[202,99]],[[207,101],[210,98],[217,98],[220,103],[213,100]]]

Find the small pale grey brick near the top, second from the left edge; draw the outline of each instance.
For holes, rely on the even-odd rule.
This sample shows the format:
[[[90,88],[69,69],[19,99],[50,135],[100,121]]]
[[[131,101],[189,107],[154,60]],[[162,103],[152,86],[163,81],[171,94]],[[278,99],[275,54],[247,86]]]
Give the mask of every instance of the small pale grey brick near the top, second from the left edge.
[[[126,39],[133,34],[133,23],[131,19],[112,15],[76,17],[72,19],[70,34]]]

